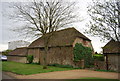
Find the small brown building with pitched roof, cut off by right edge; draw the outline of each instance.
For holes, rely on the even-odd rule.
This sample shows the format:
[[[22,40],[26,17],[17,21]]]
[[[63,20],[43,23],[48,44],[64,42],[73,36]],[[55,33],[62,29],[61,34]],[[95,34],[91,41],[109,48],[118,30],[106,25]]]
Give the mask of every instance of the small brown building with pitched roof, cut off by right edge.
[[[120,72],[120,42],[111,40],[103,47],[106,69]]]

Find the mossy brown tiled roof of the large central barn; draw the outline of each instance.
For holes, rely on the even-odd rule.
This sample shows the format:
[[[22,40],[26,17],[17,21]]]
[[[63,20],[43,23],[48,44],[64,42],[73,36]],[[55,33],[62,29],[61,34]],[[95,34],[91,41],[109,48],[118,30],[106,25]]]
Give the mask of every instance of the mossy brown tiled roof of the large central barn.
[[[50,33],[47,33],[46,36],[50,36]],[[42,36],[33,41],[29,47],[44,47],[44,37],[45,36]],[[53,33],[49,40],[49,47],[72,45],[76,37],[90,41],[89,38],[77,31],[75,28],[67,28]]]

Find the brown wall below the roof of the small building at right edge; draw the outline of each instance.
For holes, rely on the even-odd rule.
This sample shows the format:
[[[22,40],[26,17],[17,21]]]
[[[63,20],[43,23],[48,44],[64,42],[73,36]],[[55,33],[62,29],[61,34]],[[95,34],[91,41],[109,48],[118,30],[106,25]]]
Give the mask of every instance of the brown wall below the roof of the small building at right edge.
[[[109,69],[118,71],[120,70],[120,55],[115,55],[115,54],[109,54],[108,55],[108,64],[109,64]],[[120,72],[120,71],[119,71]]]

